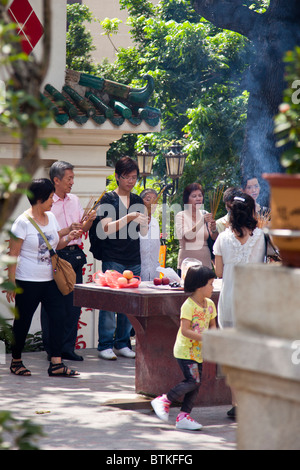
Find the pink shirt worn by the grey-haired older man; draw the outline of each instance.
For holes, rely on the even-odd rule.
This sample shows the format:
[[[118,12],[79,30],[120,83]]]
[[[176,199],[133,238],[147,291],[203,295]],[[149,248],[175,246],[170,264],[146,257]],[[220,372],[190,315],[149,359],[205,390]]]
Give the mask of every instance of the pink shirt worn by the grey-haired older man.
[[[83,209],[75,194],[68,193],[61,199],[54,193],[51,212],[55,215],[61,229],[69,227],[72,223],[79,223],[83,216]],[[80,245],[81,238],[71,240],[68,246]]]

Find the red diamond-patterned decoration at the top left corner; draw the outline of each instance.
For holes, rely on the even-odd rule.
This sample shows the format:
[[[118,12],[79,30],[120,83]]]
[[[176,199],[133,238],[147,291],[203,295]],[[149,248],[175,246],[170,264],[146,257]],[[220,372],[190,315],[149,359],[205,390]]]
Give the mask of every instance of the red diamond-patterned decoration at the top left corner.
[[[8,13],[18,25],[17,33],[22,37],[23,51],[30,54],[44,34],[43,25],[28,0],[14,0]]]

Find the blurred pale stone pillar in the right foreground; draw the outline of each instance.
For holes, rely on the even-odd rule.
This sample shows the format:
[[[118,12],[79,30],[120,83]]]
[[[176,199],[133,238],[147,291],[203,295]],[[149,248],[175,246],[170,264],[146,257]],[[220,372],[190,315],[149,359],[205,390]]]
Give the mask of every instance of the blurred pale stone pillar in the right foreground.
[[[239,450],[300,449],[300,269],[235,268],[236,328],[204,335],[238,402]]]

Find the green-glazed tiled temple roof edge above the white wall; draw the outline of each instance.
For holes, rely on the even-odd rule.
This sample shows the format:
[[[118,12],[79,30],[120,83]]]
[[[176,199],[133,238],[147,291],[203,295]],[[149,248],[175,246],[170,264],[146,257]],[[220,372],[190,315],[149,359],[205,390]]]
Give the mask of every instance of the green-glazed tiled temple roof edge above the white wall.
[[[62,126],[69,120],[81,125],[92,120],[99,126],[109,120],[112,124],[121,126],[126,119],[134,126],[145,121],[149,126],[155,127],[160,121],[160,111],[147,106],[154,91],[154,81],[150,75],[143,78],[147,81],[145,87],[133,88],[94,75],[67,70],[62,90],[47,84],[41,96],[47,107],[54,112],[55,121]]]

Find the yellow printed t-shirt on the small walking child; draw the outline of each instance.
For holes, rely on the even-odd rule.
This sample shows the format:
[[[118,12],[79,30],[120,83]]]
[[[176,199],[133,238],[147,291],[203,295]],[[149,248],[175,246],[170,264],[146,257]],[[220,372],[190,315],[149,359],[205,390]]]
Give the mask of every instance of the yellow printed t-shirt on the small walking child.
[[[206,308],[200,307],[189,297],[181,307],[180,318],[189,320],[191,329],[200,334],[208,330],[210,321],[217,316],[214,302],[211,299],[206,299],[206,303]],[[201,363],[203,362],[202,342],[186,338],[179,328],[174,345],[174,356],[177,359],[188,359]]]

